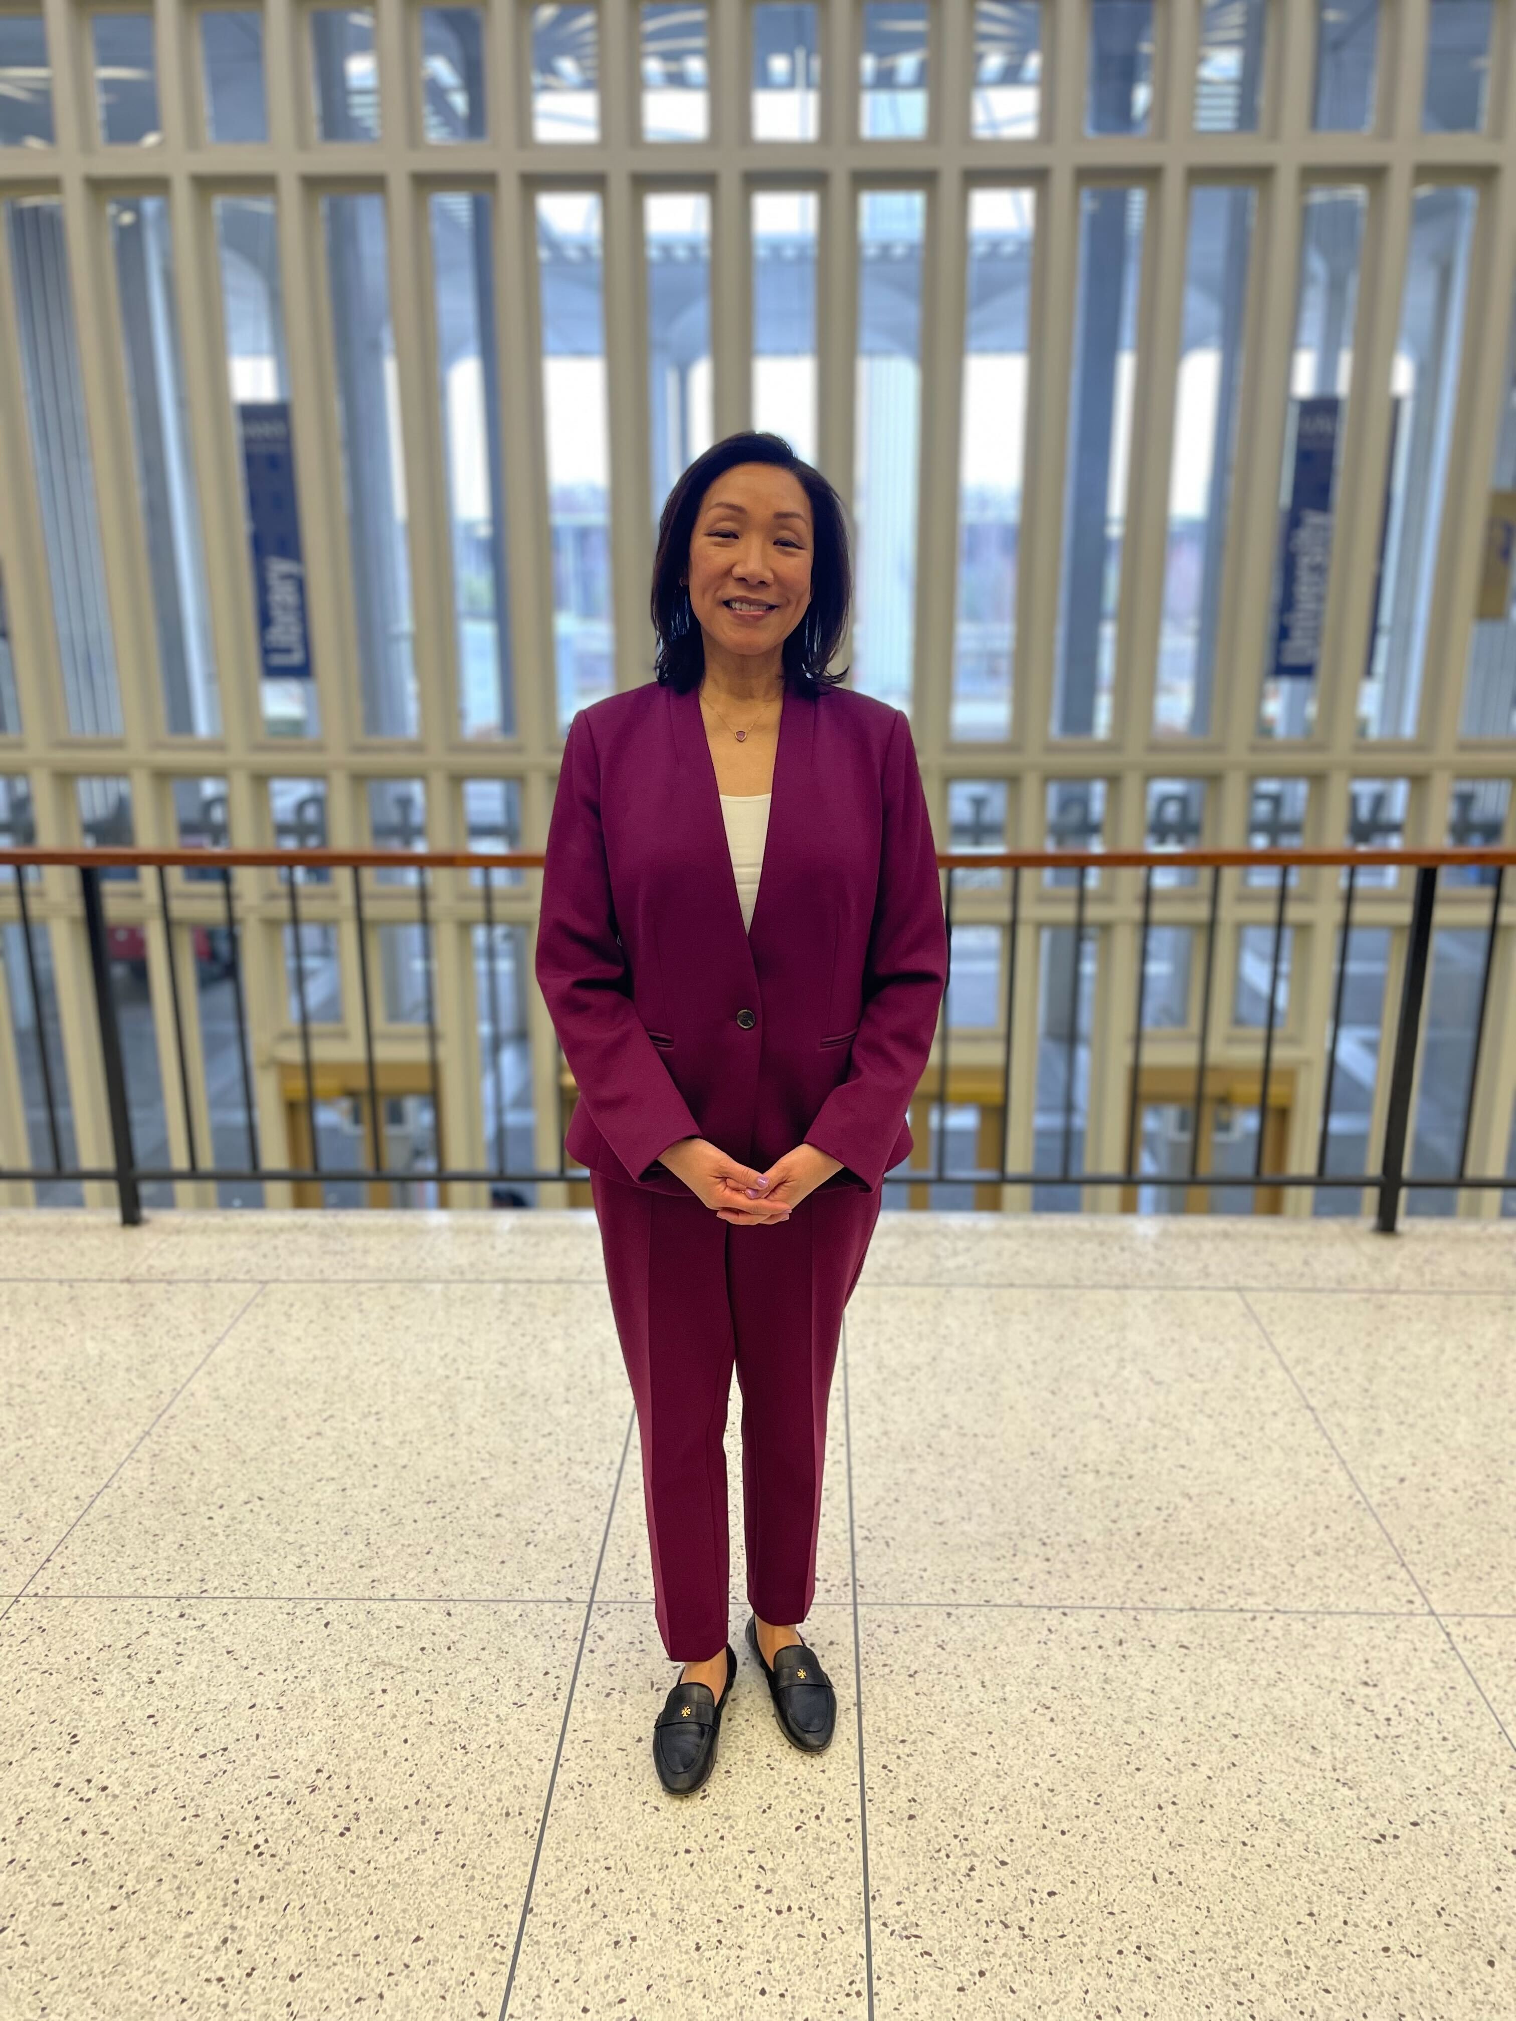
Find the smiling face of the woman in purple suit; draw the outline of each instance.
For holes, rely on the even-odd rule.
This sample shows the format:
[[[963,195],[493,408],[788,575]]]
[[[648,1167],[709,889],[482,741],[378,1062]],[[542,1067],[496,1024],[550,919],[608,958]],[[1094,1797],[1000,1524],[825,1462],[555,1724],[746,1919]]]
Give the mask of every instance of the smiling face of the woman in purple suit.
[[[811,604],[811,499],[792,471],[738,463],[699,501],[689,536],[689,604],[728,653],[772,655]],[[744,614],[734,604],[762,604]]]

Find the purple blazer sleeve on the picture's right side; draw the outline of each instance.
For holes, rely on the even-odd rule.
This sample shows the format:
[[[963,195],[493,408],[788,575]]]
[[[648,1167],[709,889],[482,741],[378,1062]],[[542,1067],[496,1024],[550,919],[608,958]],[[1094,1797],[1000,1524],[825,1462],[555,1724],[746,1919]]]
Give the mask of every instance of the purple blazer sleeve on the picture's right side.
[[[895,709],[883,760],[879,891],[853,1059],[804,1134],[873,1192],[926,1071],[948,984],[948,928],[910,721]]]

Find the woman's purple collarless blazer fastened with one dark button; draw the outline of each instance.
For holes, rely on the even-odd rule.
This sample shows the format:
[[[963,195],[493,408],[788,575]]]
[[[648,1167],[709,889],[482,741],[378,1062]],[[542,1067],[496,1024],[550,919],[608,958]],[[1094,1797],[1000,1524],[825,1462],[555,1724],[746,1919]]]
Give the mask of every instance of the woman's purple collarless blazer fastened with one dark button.
[[[657,1192],[701,1136],[764,1170],[802,1140],[873,1192],[948,976],[908,717],[849,687],[784,695],[752,932],[699,693],[649,681],[568,726],[536,976],[578,1083],[570,1158]]]

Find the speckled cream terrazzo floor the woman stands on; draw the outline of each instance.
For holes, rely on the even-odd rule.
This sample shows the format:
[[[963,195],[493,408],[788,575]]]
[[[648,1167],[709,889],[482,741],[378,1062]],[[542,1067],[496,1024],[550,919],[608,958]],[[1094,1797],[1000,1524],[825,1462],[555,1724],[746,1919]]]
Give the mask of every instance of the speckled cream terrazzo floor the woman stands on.
[[[1510,1223],[885,1213],[693,1799],[588,1211],[0,1215],[0,2021],[1516,2015]]]

